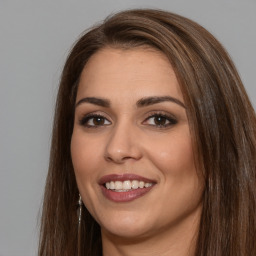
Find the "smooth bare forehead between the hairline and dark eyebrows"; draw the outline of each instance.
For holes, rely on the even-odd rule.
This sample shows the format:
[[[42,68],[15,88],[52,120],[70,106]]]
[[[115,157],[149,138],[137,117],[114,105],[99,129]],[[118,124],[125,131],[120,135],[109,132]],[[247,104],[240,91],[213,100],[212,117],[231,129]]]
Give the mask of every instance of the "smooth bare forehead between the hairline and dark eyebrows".
[[[153,48],[104,48],[85,65],[78,98],[171,95],[182,100],[175,72],[168,58]]]

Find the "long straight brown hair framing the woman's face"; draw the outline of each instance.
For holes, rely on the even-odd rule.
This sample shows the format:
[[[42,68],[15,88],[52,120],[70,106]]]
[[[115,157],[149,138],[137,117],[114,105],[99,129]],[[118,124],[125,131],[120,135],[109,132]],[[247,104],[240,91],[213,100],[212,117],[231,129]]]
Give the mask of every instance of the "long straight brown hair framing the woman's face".
[[[239,75],[204,28],[160,10],[129,10],[86,32],[61,77],[42,212],[40,256],[77,254],[78,189],[70,155],[82,69],[108,46],[151,46],[170,60],[187,106],[205,190],[196,256],[256,255],[256,118]],[[100,227],[84,207],[81,255],[101,255]]]

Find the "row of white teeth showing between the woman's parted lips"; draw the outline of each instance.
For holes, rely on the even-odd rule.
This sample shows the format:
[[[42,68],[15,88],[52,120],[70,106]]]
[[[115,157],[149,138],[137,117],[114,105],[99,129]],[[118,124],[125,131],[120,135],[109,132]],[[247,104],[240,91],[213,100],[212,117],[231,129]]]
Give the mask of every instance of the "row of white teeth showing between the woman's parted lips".
[[[131,189],[138,189],[138,188],[148,188],[151,187],[153,183],[145,183],[144,181],[138,180],[125,180],[125,181],[110,181],[106,182],[105,186],[107,189],[115,190],[116,192],[127,192]]]

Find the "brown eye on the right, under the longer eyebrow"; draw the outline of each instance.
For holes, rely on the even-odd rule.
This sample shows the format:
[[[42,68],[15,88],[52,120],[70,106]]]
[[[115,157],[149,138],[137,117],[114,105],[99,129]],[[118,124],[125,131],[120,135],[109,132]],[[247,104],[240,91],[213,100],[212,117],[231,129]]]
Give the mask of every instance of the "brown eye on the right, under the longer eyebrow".
[[[153,114],[149,116],[144,123],[156,126],[157,128],[166,128],[177,124],[177,120],[174,117],[167,116],[166,114]]]

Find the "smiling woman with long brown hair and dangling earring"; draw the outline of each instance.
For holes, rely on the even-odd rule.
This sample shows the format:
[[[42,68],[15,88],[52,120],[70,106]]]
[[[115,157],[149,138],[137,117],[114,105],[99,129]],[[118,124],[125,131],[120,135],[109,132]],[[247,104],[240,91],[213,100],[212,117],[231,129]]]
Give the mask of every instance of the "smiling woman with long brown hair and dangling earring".
[[[255,128],[204,28],[158,10],[108,18],[63,70],[39,255],[256,255]]]

